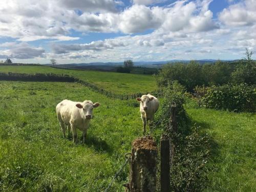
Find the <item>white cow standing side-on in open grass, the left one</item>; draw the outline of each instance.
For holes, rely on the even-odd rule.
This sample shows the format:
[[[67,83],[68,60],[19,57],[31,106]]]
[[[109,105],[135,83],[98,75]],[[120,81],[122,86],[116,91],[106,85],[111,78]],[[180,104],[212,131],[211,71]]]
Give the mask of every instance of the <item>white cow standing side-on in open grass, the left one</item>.
[[[70,100],[63,100],[56,106],[56,114],[61,126],[64,137],[66,137],[66,127],[70,133],[70,128],[73,133],[73,143],[77,142],[77,131],[82,131],[83,142],[86,141],[86,134],[91,118],[93,117],[93,108],[97,108],[100,104],[98,102],[85,100],[83,102],[75,102]]]

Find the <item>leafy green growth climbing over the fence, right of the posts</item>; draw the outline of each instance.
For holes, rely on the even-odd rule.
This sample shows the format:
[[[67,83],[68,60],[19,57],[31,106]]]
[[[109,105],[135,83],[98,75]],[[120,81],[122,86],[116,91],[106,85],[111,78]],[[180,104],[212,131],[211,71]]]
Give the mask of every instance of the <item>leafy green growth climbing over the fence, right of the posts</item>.
[[[200,191],[206,185],[209,156],[209,138],[201,134],[199,128],[191,125],[183,108],[185,101],[184,86],[177,81],[169,82],[163,88],[163,101],[156,114],[155,126],[167,133],[175,145],[174,159],[171,168],[171,191]],[[177,133],[169,127],[170,107],[176,103]],[[157,138],[159,140],[159,138]]]

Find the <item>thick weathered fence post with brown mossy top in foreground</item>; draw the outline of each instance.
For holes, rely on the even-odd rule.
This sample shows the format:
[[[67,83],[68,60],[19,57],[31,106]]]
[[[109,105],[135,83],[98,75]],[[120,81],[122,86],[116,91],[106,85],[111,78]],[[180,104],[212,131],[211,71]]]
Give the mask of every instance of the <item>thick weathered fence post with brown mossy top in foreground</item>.
[[[155,192],[157,144],[151,136],[146,136],[134,140],[132,145],[130,191]]]

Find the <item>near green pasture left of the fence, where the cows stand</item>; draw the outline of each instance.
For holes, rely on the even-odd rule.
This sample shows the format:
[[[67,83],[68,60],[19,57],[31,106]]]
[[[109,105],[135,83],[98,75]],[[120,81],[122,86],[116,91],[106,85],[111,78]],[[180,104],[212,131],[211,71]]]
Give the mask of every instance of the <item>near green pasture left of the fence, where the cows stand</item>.
[[[138,108],[77,83],[1,81],[0,98],[0,183],[2,176],[6,191],[15,185],[19,191],[50,186],[101,191],[130,152],[132,140],[142,135]],[[65,98],[101,103],[94,109],[86,145],[75,146],[61,136],[55,106]],[[127,169],[111,191],[123,191],[126,179]]]

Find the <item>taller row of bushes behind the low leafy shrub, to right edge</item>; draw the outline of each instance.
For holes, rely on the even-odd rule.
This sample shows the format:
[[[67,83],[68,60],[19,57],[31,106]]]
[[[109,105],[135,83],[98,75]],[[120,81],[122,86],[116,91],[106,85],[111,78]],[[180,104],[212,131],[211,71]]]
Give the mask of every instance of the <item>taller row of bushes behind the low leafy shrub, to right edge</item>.
[[[193,92],[197,86],[221,86],[225,83],[256,83],[256,62],[252,52],[246,49],[246,57],[238,61],[200,65],[196,61],[187,63],[167,63],[155,76],[158,86],[167,86],[177,80],[187,91]]]

